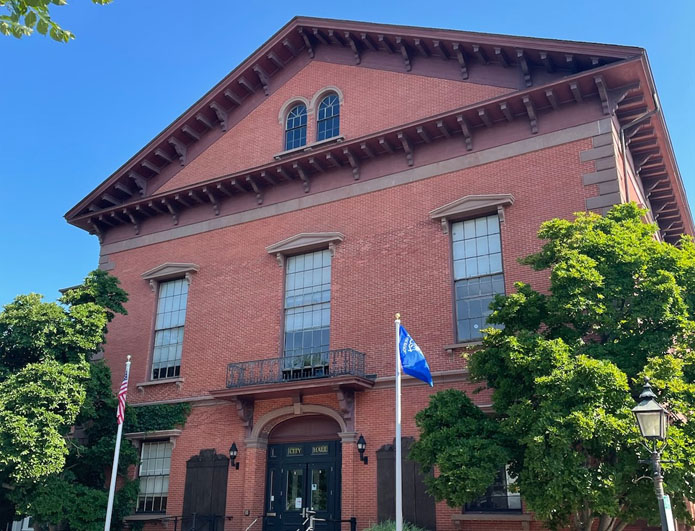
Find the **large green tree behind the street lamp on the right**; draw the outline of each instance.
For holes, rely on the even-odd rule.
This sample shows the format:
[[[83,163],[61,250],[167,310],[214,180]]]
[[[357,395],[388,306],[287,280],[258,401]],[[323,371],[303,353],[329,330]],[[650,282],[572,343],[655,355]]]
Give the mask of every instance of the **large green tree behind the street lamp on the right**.
[[[544,223],[524,260],[550,289],[523,283],[497,296],[471,379],[491,388],[493,414],[464,393],[434,395],[418,413],[411,457],[436,467],[429,488],[461,506],[504,466],[528,509],[551,529],[619,531],[659,521],[631,408],[649,376],[673,413],[663,465],[679,519],[695,501],[695,245],[658,241],[634,204],[605,217]],[[669,462],[670,461],[670,462]]]

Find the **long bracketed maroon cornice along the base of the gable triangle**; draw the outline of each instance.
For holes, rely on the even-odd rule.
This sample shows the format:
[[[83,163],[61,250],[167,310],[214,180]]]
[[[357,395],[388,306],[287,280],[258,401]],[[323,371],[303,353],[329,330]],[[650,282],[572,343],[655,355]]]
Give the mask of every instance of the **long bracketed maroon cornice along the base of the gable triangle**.
[[[214,208],[210,195],[225,200],[226,197],[235,197],[239,193],[249,193],[250,188],[245,182],[247,177],[257,182],[261,189],[298,183],[303,186],[305,192],[308,192],[311,180],[329,173],[334,168],[352,166],[355,179],[359,179],[360,166],[363,163],[394,153],[405,155],[408,165],[412,165],[418,148],[430,142],[463,136],[466,148],[469,151],[474,150],[474,140],[478,130],[507,124],[509,116],[513,120],[528,121],[531,133],[535,134],[538,112],[563,109],[565,106],[576,103],[571,86],[581,94],[582,101],[598,99],[595,75],[607,73],[609,70],[613,72],[617,68],[616,76],[623,79],[626,75],[630,75],[630,72],[622,72],[621,69],[629,70],[639,61],[640,59],[637,58],[617,65],[598,67],[591,72],[553,80],[545,85],[504,94],[484,102],[476,102],[338,144],[317,143],[316,146],[307,146],[296,154],[288,153],[289,156],[283,156],[279,161],[214,177],[146,198],[133,197],[123,205],[108,204],[104,207],[93,205],[89,211],[75,212],[74,215],[71,215],[71,211],[66,216],[70,223],[92,232],[95,227],[104,232],[111,226],[129,222],[124,212],[132,213],[133,209],[136,212],[135,217],[139,219],[168,212],[172,216],[173,223],[177,224],[181,210],[199,204],[197,201],[190,200],[191,192],[199,197],[202,203],[210,202],[209,204]],[[632,86],[630,89],[636,90]],[[505,104],[504,108],[501,107],[502,103]],[[204,193],[204,188],[211,194]]]

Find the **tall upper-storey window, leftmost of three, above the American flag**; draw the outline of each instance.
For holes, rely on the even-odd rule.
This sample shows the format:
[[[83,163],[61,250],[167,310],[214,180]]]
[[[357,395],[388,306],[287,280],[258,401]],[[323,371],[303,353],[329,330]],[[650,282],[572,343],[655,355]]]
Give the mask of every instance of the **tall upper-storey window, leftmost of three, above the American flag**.
[[[159,283],[152,356],[153,380],[176,378],[181,373],[181,347],[187,299],[187,279]]]

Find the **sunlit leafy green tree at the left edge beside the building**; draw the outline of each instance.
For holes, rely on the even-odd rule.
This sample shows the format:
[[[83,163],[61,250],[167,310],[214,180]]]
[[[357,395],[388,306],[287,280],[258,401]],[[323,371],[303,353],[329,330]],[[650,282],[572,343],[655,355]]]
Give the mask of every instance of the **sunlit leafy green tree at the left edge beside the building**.
[[[12,492],[63,470],[66,436],[95,371],[89,360],[126,300],[116,279],[94,271],[58,303],[21,295],[0,313],[0,507],[11,507]],[[110,393],[110,382],[102,385]]]

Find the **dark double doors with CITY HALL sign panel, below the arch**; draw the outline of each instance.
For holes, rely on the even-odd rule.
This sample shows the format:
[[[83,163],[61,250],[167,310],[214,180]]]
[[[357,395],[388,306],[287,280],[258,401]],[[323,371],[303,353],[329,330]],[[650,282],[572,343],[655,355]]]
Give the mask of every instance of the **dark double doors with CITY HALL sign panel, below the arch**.
[[[304,529],[306,510],[316,518],[340,518],[340,444],[319,441],[268,446],[266,531]],[[316,522],[316,531],[336,531],[335,522]]]

